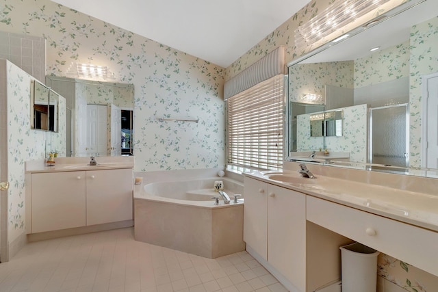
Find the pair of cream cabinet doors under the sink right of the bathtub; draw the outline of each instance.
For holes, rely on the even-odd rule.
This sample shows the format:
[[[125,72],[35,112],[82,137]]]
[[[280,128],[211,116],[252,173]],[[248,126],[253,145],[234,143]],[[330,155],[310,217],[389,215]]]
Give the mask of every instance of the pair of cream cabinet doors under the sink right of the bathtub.
[[[248,177],[244,185],[244,241],[248,252],[266,261],[274,276],[290,282],[288,289],[305,291],[305,194]]]

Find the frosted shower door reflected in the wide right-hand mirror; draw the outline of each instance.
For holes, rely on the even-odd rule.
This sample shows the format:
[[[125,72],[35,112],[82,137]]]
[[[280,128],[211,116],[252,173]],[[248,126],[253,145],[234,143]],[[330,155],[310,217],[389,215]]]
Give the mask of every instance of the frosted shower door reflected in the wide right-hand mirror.
[[[408,105],[376,107],[370,111],[370,163],[409,166]]]

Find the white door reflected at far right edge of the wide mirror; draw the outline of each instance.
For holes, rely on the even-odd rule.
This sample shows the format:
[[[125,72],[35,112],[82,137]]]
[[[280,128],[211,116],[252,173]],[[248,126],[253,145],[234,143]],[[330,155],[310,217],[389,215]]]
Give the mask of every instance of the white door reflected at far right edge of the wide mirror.
[[[423,105],[423,137],[425,143],[425,156],[422,166],[425,168],[438,168],[438,73],[426,79],[427,96]]]

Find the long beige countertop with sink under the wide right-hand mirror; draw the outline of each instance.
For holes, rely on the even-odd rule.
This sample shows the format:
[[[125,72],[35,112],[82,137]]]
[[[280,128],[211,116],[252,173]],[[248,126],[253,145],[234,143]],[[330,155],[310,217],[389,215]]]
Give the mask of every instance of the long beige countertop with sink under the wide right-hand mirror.
[[[371,185],[315,174],[303,178],[298,172],[264,171],[244,174],[250,178],[344,204],[400,222],[438,232],[438,196],[404,189]]]

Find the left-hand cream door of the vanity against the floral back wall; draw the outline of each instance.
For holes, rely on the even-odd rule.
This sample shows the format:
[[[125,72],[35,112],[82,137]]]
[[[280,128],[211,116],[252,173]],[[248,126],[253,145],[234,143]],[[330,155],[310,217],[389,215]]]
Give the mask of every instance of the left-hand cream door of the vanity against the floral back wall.
[[[86,172],[31,175],[31,233],[85,226]]]

